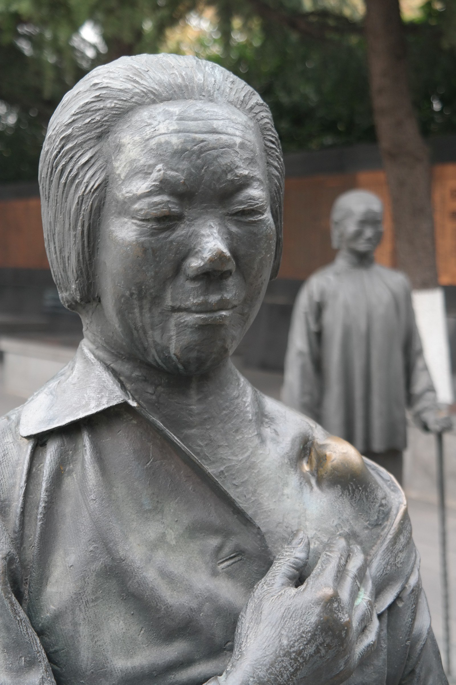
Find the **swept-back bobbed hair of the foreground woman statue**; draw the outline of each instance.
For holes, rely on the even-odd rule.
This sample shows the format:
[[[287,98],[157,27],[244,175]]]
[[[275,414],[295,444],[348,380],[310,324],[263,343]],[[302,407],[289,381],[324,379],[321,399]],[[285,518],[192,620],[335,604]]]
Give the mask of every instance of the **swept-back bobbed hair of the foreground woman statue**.
[[[62,303],[75,310],[96,297],[94,256],[107,187],[103,142],[133,110],[172,101],[232,105],[258,126],[267,164],[276,254],[282,253],[284,164],[271,112],[258,93],[213,62],[179,55],[136,55],[98,66],[70,90],[47,129],[40,157],[46,253]]]

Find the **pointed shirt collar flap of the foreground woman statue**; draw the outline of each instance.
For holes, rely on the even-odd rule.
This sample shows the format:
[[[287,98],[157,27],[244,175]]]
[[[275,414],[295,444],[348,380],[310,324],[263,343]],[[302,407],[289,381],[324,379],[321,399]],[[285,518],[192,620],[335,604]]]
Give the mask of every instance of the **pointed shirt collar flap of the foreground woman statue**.
[[[122,402],[137,406],[118,378],[82,341],[72,361],[27,400],[19,433],[29,438]]]

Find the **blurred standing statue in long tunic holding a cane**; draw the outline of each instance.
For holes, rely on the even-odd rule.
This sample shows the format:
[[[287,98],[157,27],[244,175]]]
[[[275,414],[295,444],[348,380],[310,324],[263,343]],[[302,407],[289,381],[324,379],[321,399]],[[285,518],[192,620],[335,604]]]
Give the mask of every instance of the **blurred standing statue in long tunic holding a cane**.
[[[372,192],[336,199],[331,231],[339,252],[297,296],[282,399],[401,483],[405,409],[425,430],[448,430],[451,419],[438,407],[407,277],[374,262],[382,221]]]

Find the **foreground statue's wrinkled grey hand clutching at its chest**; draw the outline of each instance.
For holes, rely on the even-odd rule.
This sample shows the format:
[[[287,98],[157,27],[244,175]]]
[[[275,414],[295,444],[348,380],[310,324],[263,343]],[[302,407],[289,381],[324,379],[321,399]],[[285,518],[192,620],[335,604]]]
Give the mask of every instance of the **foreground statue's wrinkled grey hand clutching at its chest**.
[[[296,587],[308,553],[308,538],[298,531],[254,588],[219,682],[335,685],[375,649],[378,621],[361,549],[333,538]]]

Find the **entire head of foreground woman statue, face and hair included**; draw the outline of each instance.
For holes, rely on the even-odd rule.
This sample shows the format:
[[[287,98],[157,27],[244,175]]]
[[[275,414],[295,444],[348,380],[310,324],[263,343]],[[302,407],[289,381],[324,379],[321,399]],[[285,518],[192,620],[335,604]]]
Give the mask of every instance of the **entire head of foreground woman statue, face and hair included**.
[[[271,114],[196,58],[100,69],[62,100],[40,160],[59,295],[95,346],[202,373],[237,347],[278,271],[284,170]]]

